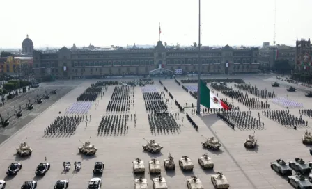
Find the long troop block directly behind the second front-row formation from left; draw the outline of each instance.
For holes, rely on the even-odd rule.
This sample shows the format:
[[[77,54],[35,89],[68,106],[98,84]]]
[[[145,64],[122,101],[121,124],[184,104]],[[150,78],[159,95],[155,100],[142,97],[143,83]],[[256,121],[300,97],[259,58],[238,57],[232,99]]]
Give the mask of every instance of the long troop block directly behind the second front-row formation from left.
[[[129,86],[117,86],[111,94],[111,100],[107,105],[107,112],[125,113],[130,110],[130,96],[134,98]],[[134,100],[134,99],[133,99]]]

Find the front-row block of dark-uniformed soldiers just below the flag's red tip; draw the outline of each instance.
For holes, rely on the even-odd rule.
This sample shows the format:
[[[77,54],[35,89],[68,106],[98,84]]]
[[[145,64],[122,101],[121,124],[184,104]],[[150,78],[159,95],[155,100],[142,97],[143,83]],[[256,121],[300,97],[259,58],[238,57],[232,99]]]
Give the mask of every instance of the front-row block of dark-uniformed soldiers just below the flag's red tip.
[[[236,126],[238,129],[262,129],[264,123],[251,116],[251,112],[226,112],[217,113],[217,116],[232,129]]]

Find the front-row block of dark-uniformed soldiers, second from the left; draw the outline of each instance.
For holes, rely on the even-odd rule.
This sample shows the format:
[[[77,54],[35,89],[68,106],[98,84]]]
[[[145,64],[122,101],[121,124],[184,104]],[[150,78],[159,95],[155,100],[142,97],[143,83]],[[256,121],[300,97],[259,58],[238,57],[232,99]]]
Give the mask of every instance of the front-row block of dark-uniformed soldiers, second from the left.
[[[129,115],[104,115],[98,127],[98,135],[120,135],[128,132]]]

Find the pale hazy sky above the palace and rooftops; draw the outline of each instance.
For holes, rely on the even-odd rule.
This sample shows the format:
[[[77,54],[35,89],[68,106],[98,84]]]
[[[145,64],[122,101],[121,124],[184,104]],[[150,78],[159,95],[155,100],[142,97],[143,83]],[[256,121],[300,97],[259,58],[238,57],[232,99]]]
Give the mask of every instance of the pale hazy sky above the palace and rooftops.
[[[198,41],[197,0],[0,1],[1,48]],[[312,37],[311,0],[276,0],[276,42]],[[261,45],[274,38],[274,0],[201,0],[203,45]]]

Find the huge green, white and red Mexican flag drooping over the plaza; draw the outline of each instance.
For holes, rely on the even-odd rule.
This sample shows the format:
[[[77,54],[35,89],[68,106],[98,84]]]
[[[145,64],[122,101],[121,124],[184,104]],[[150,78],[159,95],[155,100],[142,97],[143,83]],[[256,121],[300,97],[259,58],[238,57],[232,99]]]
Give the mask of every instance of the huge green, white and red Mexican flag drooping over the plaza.
[[[230,109],[215,94],[210,92],[209,88],[203,81],[201,81],[200,99],[201,99],[201,105],[207,108],[223,108],[226,110]]]

